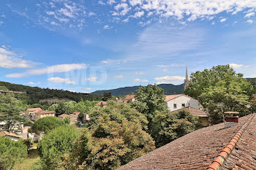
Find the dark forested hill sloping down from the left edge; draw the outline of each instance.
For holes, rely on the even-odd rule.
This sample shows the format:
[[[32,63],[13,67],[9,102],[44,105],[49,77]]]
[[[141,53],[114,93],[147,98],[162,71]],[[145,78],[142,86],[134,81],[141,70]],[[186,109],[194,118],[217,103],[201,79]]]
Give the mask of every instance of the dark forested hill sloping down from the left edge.
[[[59,98],[72,101],[83,100],[101,100],[102,96],[95,94],[74,93],[67,90],[56,90],[50,88],[30,87],[27,85],[17,85],[10,82],[0,82],[0,86],[6,87],[8,90],[26,92],[18,94],[18,98],[26,100],[28,104],[37,104],[40,100],[48,98]]]

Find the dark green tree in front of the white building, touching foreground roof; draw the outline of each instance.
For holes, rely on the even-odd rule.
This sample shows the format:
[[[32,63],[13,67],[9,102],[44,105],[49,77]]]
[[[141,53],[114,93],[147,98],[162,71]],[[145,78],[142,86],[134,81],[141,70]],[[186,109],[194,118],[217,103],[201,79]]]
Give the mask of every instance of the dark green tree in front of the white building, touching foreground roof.
[[[156,146],[162,147],[163,145],[178,139],[185,134],[200,128],[199,118],[190,112],[182,110],[180,112],[157,112],[156,117],[153,119],[152,132]]]

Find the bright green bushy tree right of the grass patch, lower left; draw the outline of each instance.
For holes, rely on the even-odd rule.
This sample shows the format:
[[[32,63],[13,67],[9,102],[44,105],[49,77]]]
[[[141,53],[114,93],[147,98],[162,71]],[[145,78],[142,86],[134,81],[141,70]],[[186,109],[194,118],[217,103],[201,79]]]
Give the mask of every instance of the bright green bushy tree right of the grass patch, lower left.
[[[65,155],[74,150],[77,139],[78,133],[70,126],[60,126],[45,134],[38,144],[43,167],[61,169]]]

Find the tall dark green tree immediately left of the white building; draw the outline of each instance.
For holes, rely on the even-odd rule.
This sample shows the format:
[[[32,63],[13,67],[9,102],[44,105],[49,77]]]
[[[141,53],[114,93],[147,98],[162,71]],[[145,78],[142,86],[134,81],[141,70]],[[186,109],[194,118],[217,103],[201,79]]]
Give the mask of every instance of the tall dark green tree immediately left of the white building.
[[[140,86],[136,91],[136,102],[132,107],[146,115],[148,119],[148,131],[151,131],[151,121],[157,111],[165,110],[165,94],[157,85]]]

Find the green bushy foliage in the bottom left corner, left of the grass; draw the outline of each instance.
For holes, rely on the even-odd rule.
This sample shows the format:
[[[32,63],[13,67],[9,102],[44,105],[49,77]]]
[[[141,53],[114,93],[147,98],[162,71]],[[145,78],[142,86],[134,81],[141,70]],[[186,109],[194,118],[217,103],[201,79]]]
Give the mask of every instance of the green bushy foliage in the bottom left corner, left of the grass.
[[[12,169],[15,163],[23,161],[26,155],[27,148],[22,141],[14,142],[7,137],[0,137],[0,169]]]

